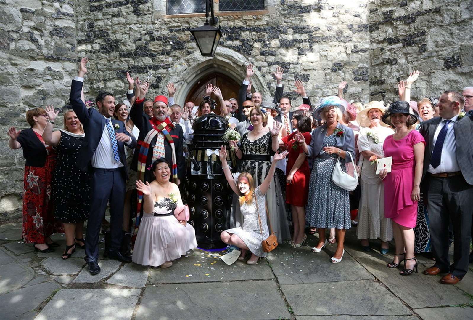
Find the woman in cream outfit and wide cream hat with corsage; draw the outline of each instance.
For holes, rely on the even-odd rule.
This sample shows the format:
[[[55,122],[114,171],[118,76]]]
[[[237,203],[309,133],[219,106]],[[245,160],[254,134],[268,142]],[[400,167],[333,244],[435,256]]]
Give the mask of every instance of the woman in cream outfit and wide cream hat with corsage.
[[[383,101],[371,101],[357,116],[361,127],[358,136],[361,199],[357,236],[365,251],[371,250],[368,239],[379,238],[381,254],[388,252],[388,241],[393,239],[393,226],[391,219],[384,216],[384,184],[376,174],[376,164],[371,165],[369,159],[384,157],[383,143],[387,136],[394,133],[381,121],[384,111]]]

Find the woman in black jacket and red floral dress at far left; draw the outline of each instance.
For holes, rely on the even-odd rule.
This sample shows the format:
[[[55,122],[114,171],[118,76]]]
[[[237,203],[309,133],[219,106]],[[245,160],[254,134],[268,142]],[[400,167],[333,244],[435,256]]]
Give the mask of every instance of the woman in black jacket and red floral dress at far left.
[[[51,181],[56,166],[56,152],[43,140],[48,115],[42,108],[26,111],[31,128],[16,130],[10,127],[8,145],[11,149],[23,148],[25,178],[23,192],[23,240],[34,243],[35,250],[53,252],[59,244],[51,240],[54,232],[62,232],[61,223],[54,222],[51,201]]]

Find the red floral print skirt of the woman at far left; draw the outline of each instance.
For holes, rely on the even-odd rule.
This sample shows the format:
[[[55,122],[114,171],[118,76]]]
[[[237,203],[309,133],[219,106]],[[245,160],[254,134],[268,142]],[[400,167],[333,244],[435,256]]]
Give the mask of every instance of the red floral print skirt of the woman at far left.
[[[56,160],[48,155],[44,167],[25,166],[23,192],[23,240],[25,243],[45,243],[55,232],[64,232],[54,221],[51,201],[51,181]]]

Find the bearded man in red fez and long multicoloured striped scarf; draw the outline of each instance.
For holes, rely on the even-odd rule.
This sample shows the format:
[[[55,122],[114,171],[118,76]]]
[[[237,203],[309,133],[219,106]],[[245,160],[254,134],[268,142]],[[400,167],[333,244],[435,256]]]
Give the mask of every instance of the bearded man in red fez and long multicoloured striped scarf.
[[[131,168],[138,173],[138,179],[143,182],[154,180],[151,164],[158,158],[164,157],[171,164],[172,181],[179,184],[185,174],[183,150],[183,130],[175,126],[168,118],[167,98],[157,96],[153,102],[153,117],[142,112],[142,105],[149,83],[138,83],[136,86],[136,101],[130,110],[133,123],[140,129],[138,136],[139,148],[135,151]],[[141,212],[142,194],[138,194],[137,212]],[[136,231],[135,231],[136,234]]]

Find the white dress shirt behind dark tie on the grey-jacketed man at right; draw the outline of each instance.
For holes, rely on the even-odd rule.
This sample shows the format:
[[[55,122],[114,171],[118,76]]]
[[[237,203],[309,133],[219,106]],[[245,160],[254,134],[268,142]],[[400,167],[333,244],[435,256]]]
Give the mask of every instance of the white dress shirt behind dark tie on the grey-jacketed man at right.
[[[429,169],[427,170],[429,173],[460,171],[460,166],[458,166],[458,161],[456,160],[456,141],[455,132],[453,130],[453,126],[457,118],[458,116],[454,116],[450,119],[452,122],[448,124],[447,135],[445,136],[444,144],[442,146],[442,156],[440,158],[440,164],[435,169],[432,167],[432,165],[429,165]],[[446,119],[442,118],[441,122],[437,126],[437,129],[435,130],[434,139],[432,141],[432,151],[435,148],[435,143],[437,142],[438,134],[445,125],[444,120]]]

